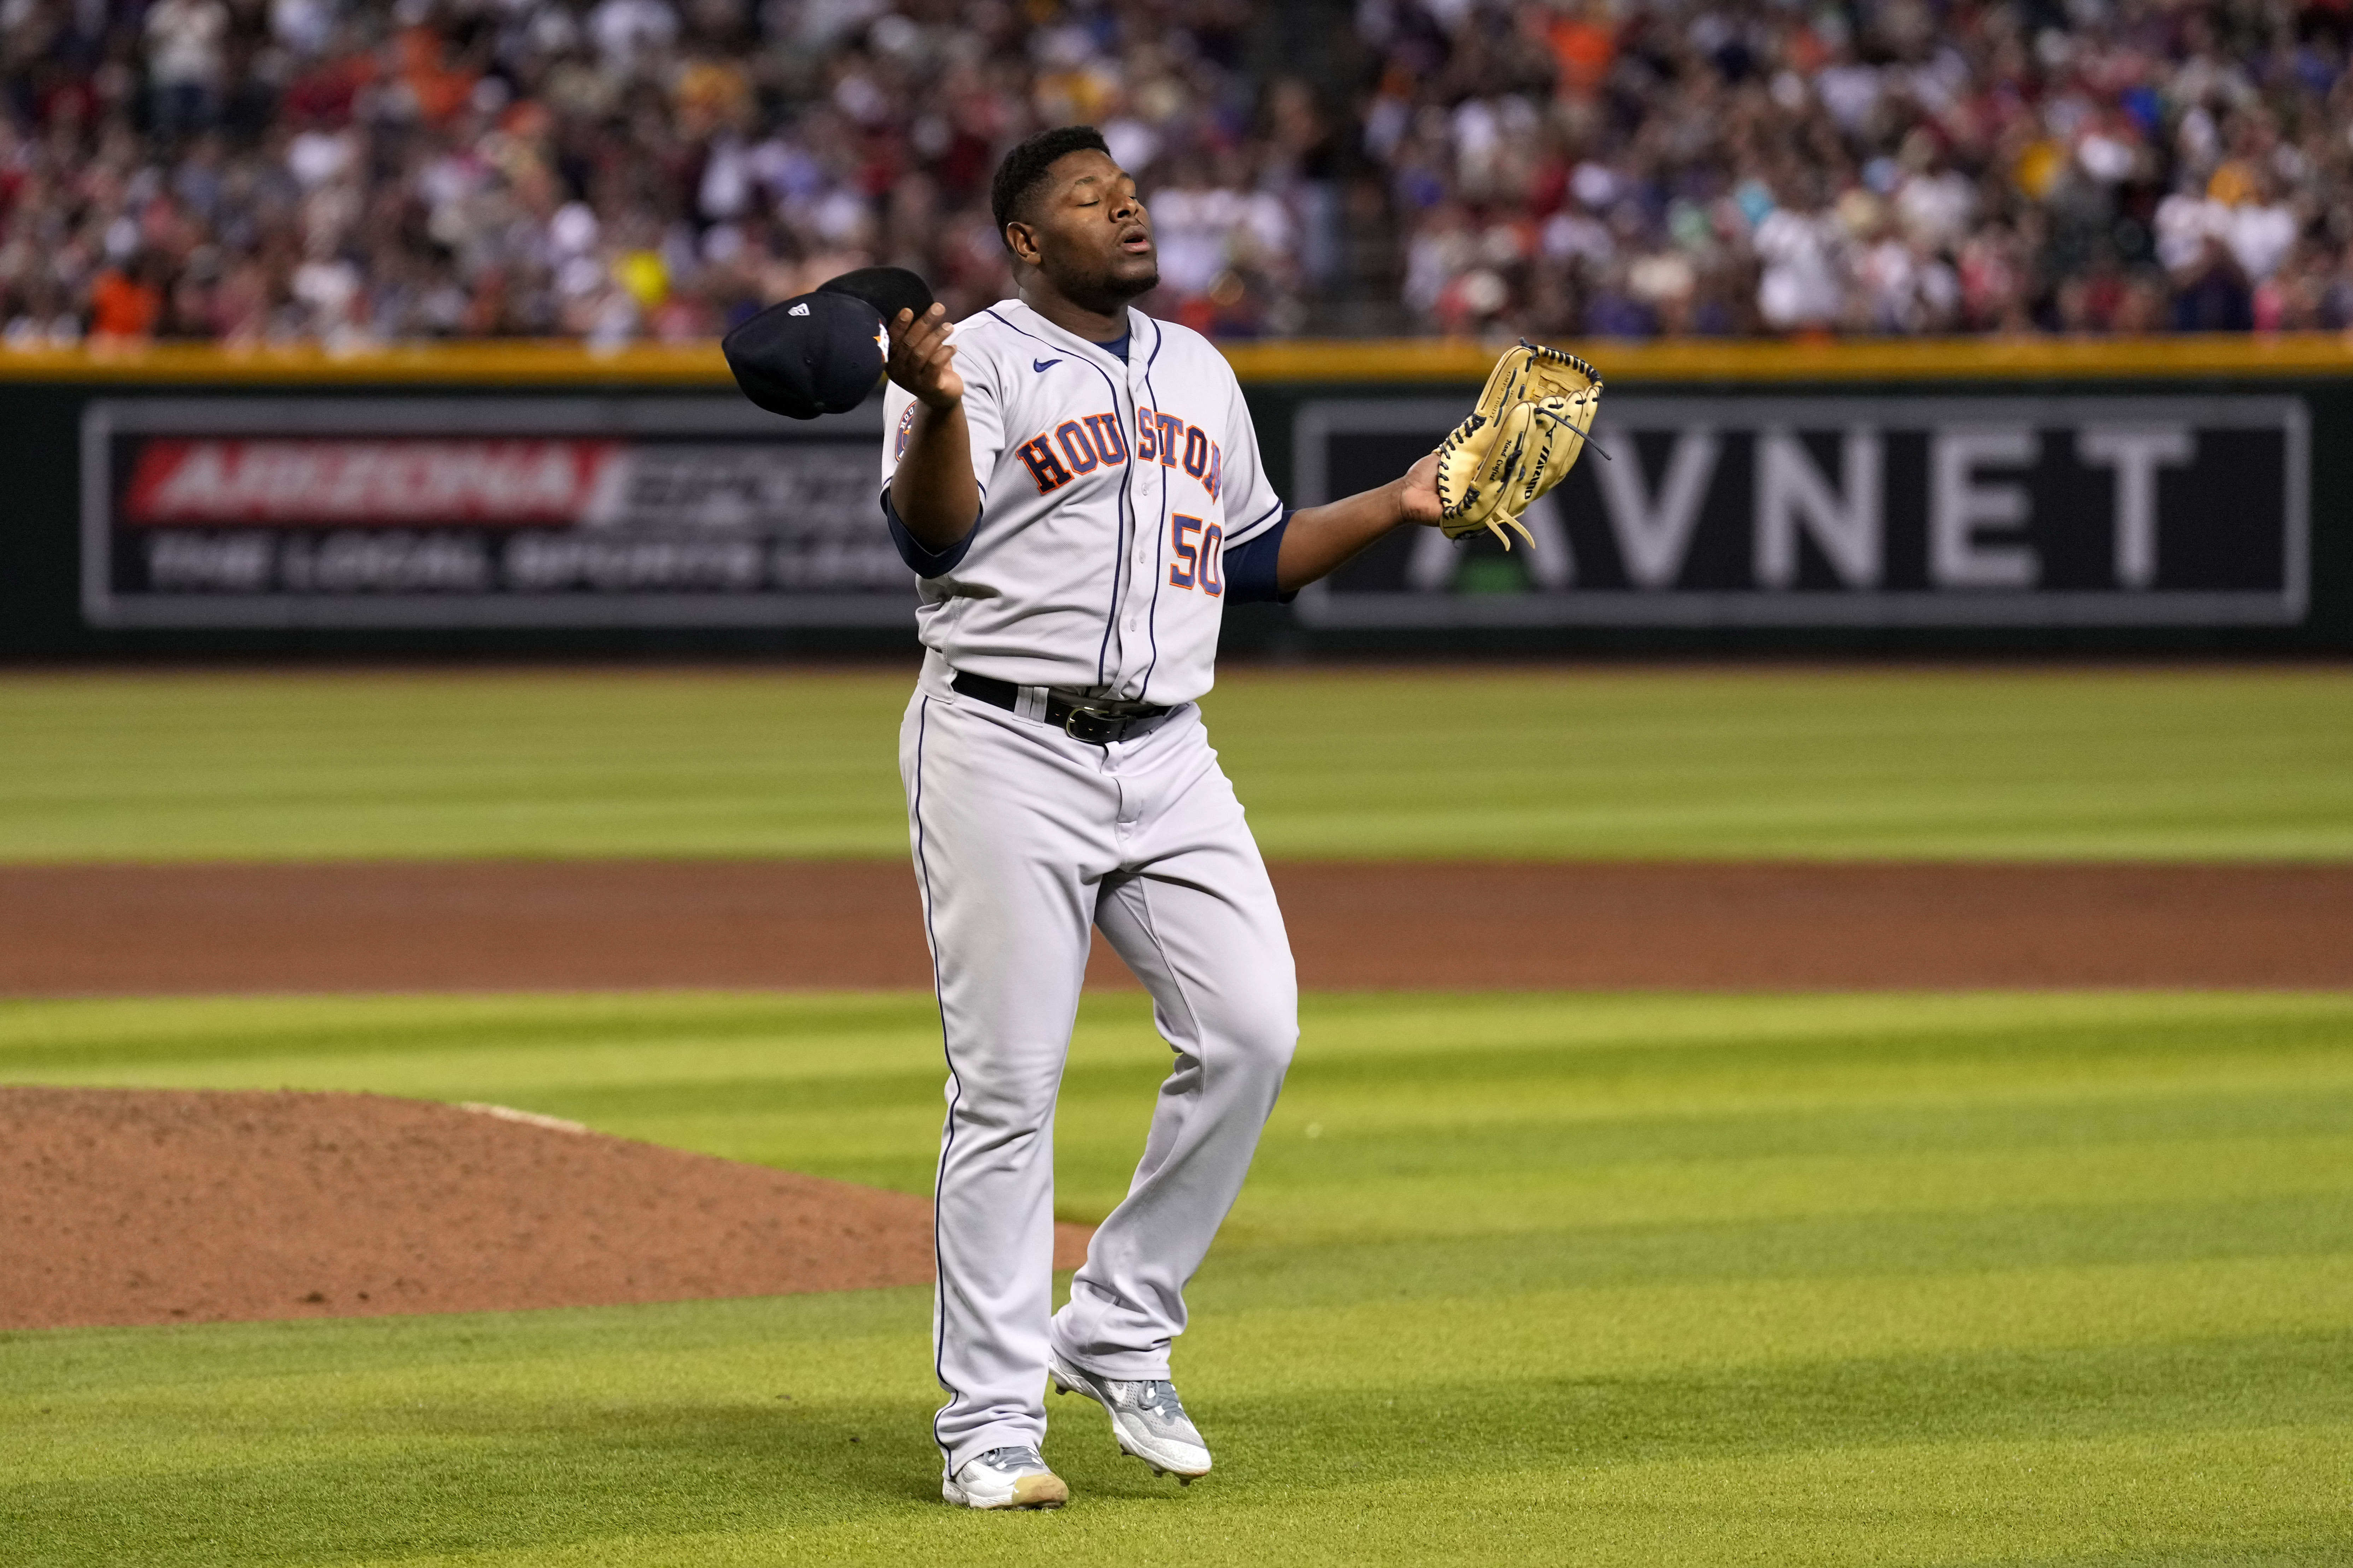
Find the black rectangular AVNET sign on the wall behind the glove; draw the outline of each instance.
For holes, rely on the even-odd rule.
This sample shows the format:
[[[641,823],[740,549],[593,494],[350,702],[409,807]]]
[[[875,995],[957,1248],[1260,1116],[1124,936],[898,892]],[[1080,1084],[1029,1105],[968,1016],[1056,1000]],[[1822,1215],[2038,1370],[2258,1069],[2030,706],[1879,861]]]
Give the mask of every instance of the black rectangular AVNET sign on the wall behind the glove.
[[[1297,503],[1398,475],[1457,402],[1311,402]],[[1537,545],[1391,536],[1311,625],[2261,625],[2306,602],[2292,397],[1609,395]]]

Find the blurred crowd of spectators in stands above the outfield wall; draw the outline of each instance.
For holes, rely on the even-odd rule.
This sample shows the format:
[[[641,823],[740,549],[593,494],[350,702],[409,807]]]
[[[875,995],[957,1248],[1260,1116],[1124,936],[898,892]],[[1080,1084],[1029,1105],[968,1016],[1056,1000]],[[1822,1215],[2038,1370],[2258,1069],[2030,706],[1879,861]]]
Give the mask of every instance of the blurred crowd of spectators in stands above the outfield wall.
[[[1221,336],[2353,324],[2353,0],[0,0],[9,343],[1009,292],[1101,125]]]

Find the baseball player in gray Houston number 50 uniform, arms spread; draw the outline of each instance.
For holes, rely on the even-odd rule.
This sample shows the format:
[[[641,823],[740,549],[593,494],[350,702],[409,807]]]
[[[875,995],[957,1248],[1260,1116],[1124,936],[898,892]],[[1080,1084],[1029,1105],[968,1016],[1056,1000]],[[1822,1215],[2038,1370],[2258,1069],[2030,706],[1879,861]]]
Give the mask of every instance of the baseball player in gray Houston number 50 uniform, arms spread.
[[[1129,308],[1160,270],[1101,134],[1024,141],[991,202],[1019,299],[951,324],[906,273],[920,301],[838,280],[868,301],[859,331],[887,329],[882,512],[920,578],[899,771],[948,1065],[932,1436],[946,1500],[979,1509],[1068,1500],[1040,1455],[1047,1385],[1101,1403],[1155,1472],[1209,1472],[1169,1345],[1299,1037],[1282,912],[1195,705],[1224,607],[1289,599],[1400,524],[1504,536],[1600,393],[1522,346],[1402,480],[1287,510],[1226,360]],[[852,308],[819,292],[802,322],[807,301]],[[791,310],[762,320],[791,331]],[[1054,1095],[1089,929],[1151,990],[1174,1063],[1127,1199],[1052,1312]]]

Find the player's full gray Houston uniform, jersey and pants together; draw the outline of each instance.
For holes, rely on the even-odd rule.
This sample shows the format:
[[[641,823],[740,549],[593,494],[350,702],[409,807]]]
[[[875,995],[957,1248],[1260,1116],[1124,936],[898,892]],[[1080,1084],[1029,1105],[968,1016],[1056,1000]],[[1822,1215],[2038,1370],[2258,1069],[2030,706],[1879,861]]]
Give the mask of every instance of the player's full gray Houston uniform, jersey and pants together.
[[[960,322],[979,524],[932,552],[889,520],[927,649],[899,771],[948,1058],[932,1432],[951,1474],[1042,1439],[1049,1342],[1106,1378],[1169,1375],[1184,1286],[1299,1037],[1282,914],[1195,708],[1226,599],[1278,597],[1287,515],[1224,357],[1127,320],[1113,346],[1016,301]],[[885,411],[889,512],[913,397],[894,386]],[[1052,724],[1068,701],[1111,717]],[[1151,990],[1174,1065],[1127,1199],[1049,1314],[1089,926]]]

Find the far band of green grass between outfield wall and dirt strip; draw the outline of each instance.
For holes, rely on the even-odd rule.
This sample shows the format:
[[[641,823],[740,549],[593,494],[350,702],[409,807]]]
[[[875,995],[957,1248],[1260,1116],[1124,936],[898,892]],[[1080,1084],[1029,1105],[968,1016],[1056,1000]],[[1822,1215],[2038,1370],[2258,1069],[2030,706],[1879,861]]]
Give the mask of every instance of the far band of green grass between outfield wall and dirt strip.
[[[0,860],[906,853],[904,675],[9,675]],[[2353,670],[1228,675],[1273,856],[2353,856]]]

